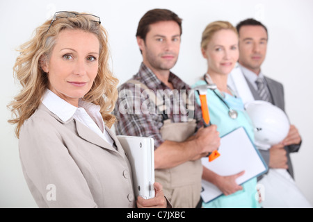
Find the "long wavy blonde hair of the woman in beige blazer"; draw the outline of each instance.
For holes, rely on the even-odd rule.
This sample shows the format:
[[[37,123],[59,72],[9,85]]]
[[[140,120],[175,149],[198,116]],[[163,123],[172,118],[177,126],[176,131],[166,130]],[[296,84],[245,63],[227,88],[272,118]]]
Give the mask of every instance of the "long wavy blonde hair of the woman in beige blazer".
[[[97,35],[100,44],[98,72],[93,86],[83,100],[100,105],[100,112],[106,126],[111,128],[115,122],[115,116],[110,113],[118,99],[118,79],[113,77],[109,69],[110,53],[107,33],[103,26],[84,15],[77,13],[75,17],[56,19],[50,28],[51,20],[46,21],[35,29],[33,38],[17,50],[20,54],[13,67],[13,73],[22,85],[22,89],[8,105],[15,117],[8,122],[17,123],[15,128],[17,137],[24,121],[37,110],[48,87],[49,80],[40,63],[43,59],[49,60],[56,37],[64,29],[80,29]]]

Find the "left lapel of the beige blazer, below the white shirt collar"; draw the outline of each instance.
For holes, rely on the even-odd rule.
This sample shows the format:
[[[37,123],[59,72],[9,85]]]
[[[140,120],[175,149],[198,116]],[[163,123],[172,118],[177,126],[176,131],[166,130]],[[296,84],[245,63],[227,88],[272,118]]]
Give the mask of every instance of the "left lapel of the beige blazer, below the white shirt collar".
[[[83,125],[83,123],[76,121],[75,119],[74,119],[74,121],[76,123],[77,133],[81,138],[87,140],[88,142],[90,142],[92,144],[95,144],[97,146],[101,146],[102,148],[106,148],[106,149],[109,149],[111,151],[117,152],[115,150],[115,148],[113,148],[113,146],[111,146],[104,139],[102,139],[102,137],[99,137],[99,135],[97,135],[97,133],[93,132],[93,130],[90,130],[90,128]]]

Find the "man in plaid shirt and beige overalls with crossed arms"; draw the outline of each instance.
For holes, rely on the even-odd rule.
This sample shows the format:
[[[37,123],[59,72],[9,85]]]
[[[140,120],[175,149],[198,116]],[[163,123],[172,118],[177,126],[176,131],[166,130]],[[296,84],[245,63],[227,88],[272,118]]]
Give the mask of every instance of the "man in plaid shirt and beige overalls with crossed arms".
[[[184,178],[196,180],[198,187],[201,182],[202,165],[198,173],[190,173],[188,169],[193,167],[200,158],[208,155],[220,145],[220,138],[216,126],[203,128],[201,108],[194,102],[193,90],[180,78],[170,72],[177,62],[180,37],[182,35],[182,19],[179,19],[170,10],[155,9],[148,11],[138,24],[137,42],[143,56],[143,63],[138,74],[130,81],[119,87],[119,98],[115,105],[113,114],[117,117],[115,130],[117,135],[131,135],[140,137],[152,137],[154,139],[154,167],[157,172],[163,169],[176,169],[190,163],[185,170],[179,169],[179,175],[175,182],[167,184],[163,182],[164,194],[171,197],[173,193],[172,184],[179,184],[182,178],[182,187],[188,182]],[[152,94],[151,94],[152,92]],[[147,96],[149,95],[149,96]],[[154,97],[155,96],[155,97]],[[154,99],[153,99],[154,97]],[[155,99],[157,98],[157,99]],[[156,101],[160,101],[161,105]],[[163,99],[162,99],[163,98]],[[163,108],[163,109],[162,109]],[[175,139],[176,134],[184,128],[184,124],[191,123],[194,119],[191,135],[186,139]],[[170,130],[164,131],[166,121],[170,121]],[[191,126],[191,125],[190,125]],[[163,133],[162,133],[163,130]],[[166,133],[164,133],[166,132]],[[199,165],[198,165],[199,167]],[[171,176],[163,174],[163,178],[175,178],[172,171]],[[165,176],[164,176],[165,175]],[[201,207],[202,201],[200,191],[196,194],[195,201],[191,201],[189,188],[177,191],[178,199],[172,196],[174,207]],[[176,188],[175,188],[176,189]],[[190,188],[194,189],[194,188]],[[200,185],[201,189],[201,185]],[[168,192],[166,192],[168,190]],[[186,195],[185,195],[186,194]],[[180,198],[180,196],[186,198]],[[189,196],[188,196],[189,195]],[[190,202],[190,203],[186,203]]]

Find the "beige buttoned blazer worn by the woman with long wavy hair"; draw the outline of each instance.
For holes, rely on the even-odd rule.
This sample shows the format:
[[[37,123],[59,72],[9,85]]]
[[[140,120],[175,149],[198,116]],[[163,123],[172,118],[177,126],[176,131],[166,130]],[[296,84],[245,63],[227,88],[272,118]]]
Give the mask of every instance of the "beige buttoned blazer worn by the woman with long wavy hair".
[[[79,121],[61,121],[40,104],[19,137],[23,173],[39,207],[136,207],[129,161],[106,130],[117,150]]]

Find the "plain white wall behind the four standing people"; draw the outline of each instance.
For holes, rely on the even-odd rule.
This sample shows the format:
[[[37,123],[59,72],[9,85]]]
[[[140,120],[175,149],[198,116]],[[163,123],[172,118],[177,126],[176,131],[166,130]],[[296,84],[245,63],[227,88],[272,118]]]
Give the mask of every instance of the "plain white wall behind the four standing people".
[[[204,27],[216,20],[236,25],[255,17],[268,27],[268,54],[262,71],[284,84],[286,110],[303,137],[299,153],[291,155],[298,187],[313,204],[313,1],[312,0],[0,0],[0,207],[37,207],[19,162],[18,140],[7,123],[6,108],[18,86],[13,79],[17,46],[58,10],[90,12],[109,32],[112,68],[123,83],[136,74],[141,54],[136,28],[152,8],[168,8],[183,18],[181,51],[172,71],[192,85],[207,69],[200,53]]]

